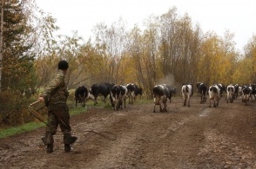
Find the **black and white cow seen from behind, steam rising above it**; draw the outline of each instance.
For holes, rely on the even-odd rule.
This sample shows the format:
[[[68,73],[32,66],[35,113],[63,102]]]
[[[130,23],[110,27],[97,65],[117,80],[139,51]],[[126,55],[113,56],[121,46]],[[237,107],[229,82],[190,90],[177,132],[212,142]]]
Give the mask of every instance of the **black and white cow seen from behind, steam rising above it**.
[[[156,85],[153,88],[153,97],[154,97],[154,113],[156,113],[156,106],[159,105],[160,112],[167,112],[167,97],[168,97],[168,88],[164,85]],[[163,105],[163,107],[162,107]]]

